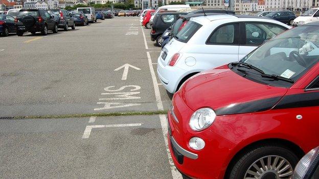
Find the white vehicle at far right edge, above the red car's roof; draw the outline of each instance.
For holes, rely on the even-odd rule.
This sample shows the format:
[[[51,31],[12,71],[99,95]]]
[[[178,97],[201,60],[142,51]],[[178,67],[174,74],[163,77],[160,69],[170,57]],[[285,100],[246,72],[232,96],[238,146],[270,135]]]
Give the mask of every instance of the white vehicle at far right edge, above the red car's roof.
[[[317,21],[319,21],[319,8],[311,8],[299,17],[295,18],[292,24],[297,26]]]

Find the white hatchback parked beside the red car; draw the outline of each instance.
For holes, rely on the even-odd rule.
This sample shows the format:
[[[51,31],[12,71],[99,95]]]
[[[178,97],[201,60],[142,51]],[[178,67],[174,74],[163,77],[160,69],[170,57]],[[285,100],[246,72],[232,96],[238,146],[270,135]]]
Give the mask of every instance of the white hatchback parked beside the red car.
[[[277,20],[254,16],[193,17],[162,49],[158,77],[174,93],[196,73],[238,61],[287,29],[288,25]]]

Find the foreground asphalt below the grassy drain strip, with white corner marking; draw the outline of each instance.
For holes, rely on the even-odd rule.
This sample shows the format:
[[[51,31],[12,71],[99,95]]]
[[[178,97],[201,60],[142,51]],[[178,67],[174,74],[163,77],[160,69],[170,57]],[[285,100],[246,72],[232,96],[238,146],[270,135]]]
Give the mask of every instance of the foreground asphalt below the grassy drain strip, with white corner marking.
[[[1,177],[172,178],[158,116],[88,121],[2,120]],[[101,125],[83,138],[85,127]]]

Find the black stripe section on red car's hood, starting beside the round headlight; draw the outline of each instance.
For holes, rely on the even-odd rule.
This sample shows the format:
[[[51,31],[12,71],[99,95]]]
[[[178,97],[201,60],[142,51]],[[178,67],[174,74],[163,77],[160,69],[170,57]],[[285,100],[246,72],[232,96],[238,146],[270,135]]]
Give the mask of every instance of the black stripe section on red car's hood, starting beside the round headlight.
[[[216,115],[230,115],[266,111],[274,107],[280,98],[281,96],[249,101],[247,103],[238,103],[219,108],[215,112]]]

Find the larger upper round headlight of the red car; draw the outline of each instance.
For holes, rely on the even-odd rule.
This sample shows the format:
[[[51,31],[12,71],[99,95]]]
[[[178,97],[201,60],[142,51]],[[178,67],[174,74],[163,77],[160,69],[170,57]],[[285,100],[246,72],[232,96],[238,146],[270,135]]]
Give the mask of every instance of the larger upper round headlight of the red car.
[[[189,125],[193,131],[202,131],[209,127],[215,120],[216,113],[210,108],[201,108],[195,111]]]

